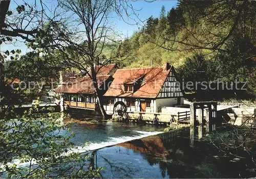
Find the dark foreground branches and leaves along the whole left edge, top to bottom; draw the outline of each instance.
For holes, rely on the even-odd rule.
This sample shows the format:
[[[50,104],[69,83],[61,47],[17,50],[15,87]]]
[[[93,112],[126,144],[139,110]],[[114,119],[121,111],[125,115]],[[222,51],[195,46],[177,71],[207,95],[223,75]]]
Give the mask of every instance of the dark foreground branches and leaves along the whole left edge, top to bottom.
[[[0,78],[0,174],[18,178],[100,177],[99,169],[84,166],[86,162],[91,161],[89,155],[71,152],[72,149],[77,149],[71,142],[75,134],[62,124],[62,114],[52,113],[51,108],[39,109],[39,101],[24,113],[21,113],[22,109],[17,108],[35,97],[40,98],[41,89],[35,93],[22,90],[18,84],[12,83],[13,80],[23,81],[23,85],[34,82],[45,86],[49,85],[52,79],[58,81],[59,70],[66,67],[58,56],[56,46],[52,45],[56,38],[62,37],[62,34],[56,31],[60,24],[45,18],[46,16],[40,17],[45,15],[44,10],[38,13],[34,8],[36,6],[25,3],[18,5],[16,11],[7,12],[7,15],[13,18],[12,23],[15,22],[17,31],[7,29],[18,32],[16,35],[26,41],[30,52],[21,56],[20,49],[8,49],[3,58],[1,56],[1,64],[5,64],[5,69],[2,71],[1,68]],[[41,19],[44,19],[44,22]],[[23,34],[24,21],[26,35]],[[22,33],[19,33],[20,27]],[[15,37],[1,36],[0,44],[11,42],[13,39]],[[28,165],[19,167],[19,163]]]

